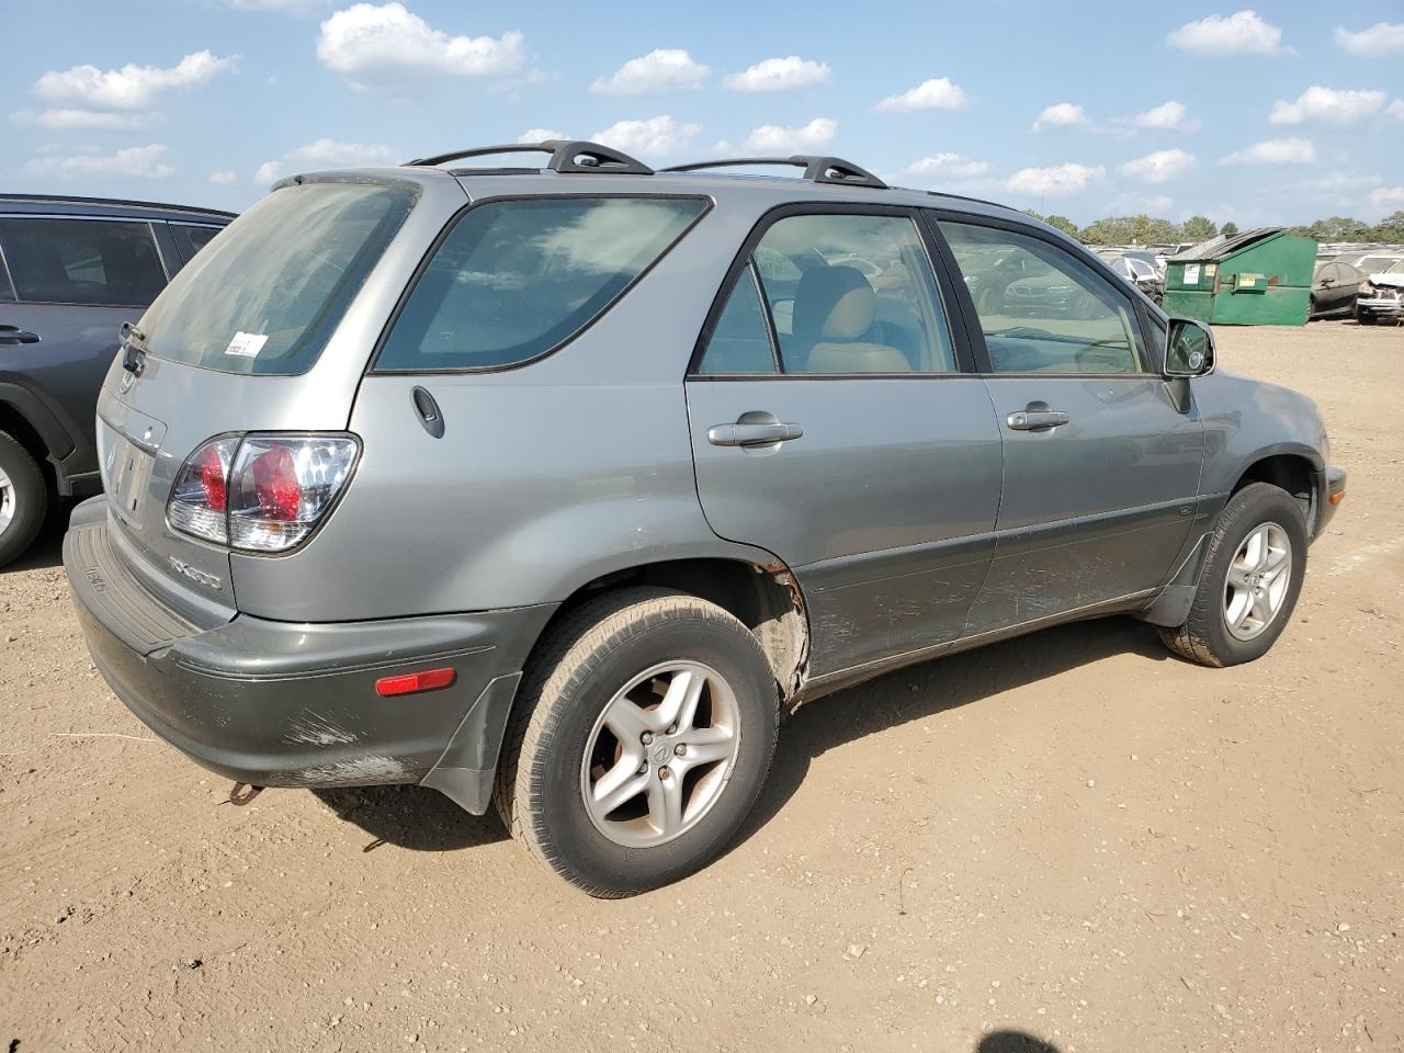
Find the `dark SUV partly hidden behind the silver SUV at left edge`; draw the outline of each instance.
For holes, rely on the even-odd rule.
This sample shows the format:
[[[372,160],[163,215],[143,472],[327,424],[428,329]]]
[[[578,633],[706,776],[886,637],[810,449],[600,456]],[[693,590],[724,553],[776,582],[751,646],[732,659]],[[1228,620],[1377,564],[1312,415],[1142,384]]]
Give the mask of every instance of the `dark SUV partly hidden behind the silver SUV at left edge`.
[[[0,194],[0,566],[49,496],[95,493],[97,395],[135,322],[230,212]]]

